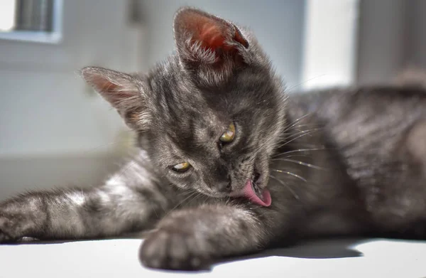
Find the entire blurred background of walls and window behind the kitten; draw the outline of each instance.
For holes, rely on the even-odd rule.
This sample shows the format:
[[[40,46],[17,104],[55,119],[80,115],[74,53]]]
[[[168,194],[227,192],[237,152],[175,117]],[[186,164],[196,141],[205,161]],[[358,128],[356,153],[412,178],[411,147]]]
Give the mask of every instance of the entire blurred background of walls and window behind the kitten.
[[[117,169],[131,134],[77,70],[146,71],[182,5],[249,26],[294,93],[426,68],[423,0],[0,0],[0,199]]]

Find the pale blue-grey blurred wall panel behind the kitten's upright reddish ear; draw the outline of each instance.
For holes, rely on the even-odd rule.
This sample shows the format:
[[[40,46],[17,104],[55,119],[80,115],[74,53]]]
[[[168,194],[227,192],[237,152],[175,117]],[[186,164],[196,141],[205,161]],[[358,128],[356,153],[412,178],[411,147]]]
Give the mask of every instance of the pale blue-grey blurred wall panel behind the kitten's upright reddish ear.
[[[173,15],[180,6],[195,6],[249,26],[289,87],[300,82],[305,0],[141,0],[148,29],[146,68],[172,53]]]

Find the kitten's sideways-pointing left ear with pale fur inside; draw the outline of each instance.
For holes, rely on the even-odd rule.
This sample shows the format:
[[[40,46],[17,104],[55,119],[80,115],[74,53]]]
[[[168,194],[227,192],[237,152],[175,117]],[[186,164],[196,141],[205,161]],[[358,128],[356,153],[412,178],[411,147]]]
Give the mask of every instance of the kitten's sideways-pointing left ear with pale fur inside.
[[[146,128],[150,117],[139,80],[126,73],[97,67],[83,68],[80,73],[131,129]]]

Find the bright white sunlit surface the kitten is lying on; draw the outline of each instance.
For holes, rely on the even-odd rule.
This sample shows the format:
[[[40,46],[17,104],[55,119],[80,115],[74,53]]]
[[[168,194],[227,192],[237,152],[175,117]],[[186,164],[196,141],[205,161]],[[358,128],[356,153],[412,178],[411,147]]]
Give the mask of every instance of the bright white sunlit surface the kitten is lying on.
[[[0,278],[187,277],[187,272],[146,269],[141,240],[0,245]],[[215,265],[198,277],[426,277],[426,242],[327,240]],[[236,275],[236,276],[235,276]]]

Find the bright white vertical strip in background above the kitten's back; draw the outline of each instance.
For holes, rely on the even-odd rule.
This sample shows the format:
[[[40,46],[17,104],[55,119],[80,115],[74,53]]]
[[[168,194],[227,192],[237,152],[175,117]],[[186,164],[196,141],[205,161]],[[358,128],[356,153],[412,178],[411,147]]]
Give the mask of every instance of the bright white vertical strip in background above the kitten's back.
[[[360,1],[306,0],[302,91],[356,82]],[[327,63],[326,57],[333,58],[332,63]]]

